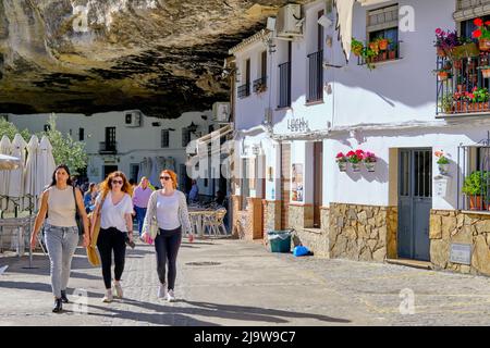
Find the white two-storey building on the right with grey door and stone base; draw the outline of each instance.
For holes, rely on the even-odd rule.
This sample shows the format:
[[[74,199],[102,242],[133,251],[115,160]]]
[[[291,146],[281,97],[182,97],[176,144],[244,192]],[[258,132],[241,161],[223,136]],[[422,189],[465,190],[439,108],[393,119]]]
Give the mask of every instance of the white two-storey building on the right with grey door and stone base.
[[[334,24],[336,14],[350,9],[348,1],[340,4],[343,9],[339,2],[339,12],[333,1],[316,1],[303,5],[301,16],[284,20],[280,13],[273,33],[259,33],[230,50],[238,66],[240,163],[246,163],[245,172],[252,165],[259,177],[256,183],[236,181],[238,215],[264,216],[262,226],[252,229],[294,227],[302,243],[327,257],[415,259],[490,274],[485,266],[490,231],[475,227],[485,224],[487,209],[481,204],[468,215],[469,197],[462,192],[466,176],[490,170],[489,148],[480,141],[488,146],[490,108],[488,102],[479,110],[471,102],[461,108],[451,98],[444,114],[438,103],[443,94],[452,97],[457,85],[467,91],[488,88],[477,69],[488,64],[488,57],[442,59],[433,47],[438,27],[470,37],[473,20],[489,18],[489,1],[355,1],[352,37],[392,39],[372,71],[354,54],[345,59]],[[290,41],[280,37],[287,21],[302,28]],[[267,91],[247,96],[240,86],[262,76],[268,37]],[[438,83],[433,70],[446,61],[452,61],[452,78]],[[291,70],[284,70],[287,62]],[[340,171],[336,154],[357,149],[376,153],[376,172],[364,165],[360,172]],[[448,175],[440,174],[439,150],[450,160]],[[244,206],[243,196],[253,198],[252,204],[248,199]],[[261,210],[254,199],[262,200]],[[471,222],[464,222],[466,216]],[[248,234],[261,237],[255,229]]]

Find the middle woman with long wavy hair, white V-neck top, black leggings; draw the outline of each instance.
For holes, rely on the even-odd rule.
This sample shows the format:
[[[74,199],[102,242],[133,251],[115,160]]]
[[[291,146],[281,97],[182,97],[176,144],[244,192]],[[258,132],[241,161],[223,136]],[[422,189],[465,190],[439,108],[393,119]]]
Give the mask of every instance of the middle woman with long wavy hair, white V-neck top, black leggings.
[[[114,252],[114,289],[119,298],[123,297],[121,276],[124,271],[126,254],[126,236],[133,241],[133,201],[132,187],[122,172],[111,173],[102,183],[102,188],[96,199],[91,226],[100,212],[100,232],[97,248],[102,263],[102,276],[106,285],[103,302],[112,302],[112,251]],[[94,228],[90,236],[94,235]]]

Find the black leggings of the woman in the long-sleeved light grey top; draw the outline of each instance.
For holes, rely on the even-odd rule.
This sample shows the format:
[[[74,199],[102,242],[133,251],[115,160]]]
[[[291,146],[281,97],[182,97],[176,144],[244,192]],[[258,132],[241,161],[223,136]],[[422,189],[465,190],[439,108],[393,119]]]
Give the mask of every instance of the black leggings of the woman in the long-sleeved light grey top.
[[[166,263],[169,260],[168,289],[173,290],[176,277],[176,256],[182,241],[182,228],[161,229],[155,238],[155,250],[157,251],[157,272],[161,284],[166,282]]]

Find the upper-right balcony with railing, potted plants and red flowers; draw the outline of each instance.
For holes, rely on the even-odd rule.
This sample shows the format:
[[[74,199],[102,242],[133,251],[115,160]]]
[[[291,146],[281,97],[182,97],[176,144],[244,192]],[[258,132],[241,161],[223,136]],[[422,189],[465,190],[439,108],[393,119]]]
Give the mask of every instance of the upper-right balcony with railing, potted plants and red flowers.
[[[438,116],[490,112],[490,21],[471,24],[471,37],[436,29]]]

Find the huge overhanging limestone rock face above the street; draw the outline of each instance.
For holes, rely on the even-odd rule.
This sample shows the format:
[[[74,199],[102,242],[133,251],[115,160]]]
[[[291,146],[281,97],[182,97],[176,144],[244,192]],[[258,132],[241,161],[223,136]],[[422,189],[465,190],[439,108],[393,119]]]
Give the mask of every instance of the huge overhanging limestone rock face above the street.
[[[209,109],[228,50],[286,2],[2,0],[0,112]]]

